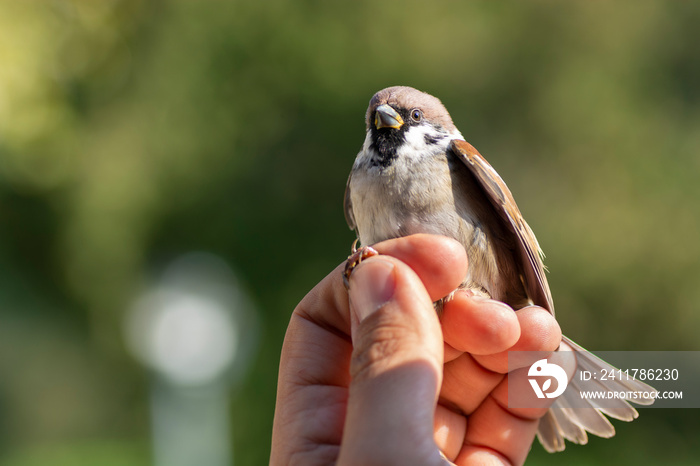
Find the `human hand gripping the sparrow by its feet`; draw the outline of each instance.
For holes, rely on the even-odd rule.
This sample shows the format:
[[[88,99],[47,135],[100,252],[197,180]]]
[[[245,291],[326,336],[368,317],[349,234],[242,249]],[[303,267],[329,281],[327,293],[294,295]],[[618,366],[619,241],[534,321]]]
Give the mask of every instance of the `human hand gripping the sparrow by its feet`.
[[[270,463],[523,463],[545,409],[508,408],[507,350],[556,349],[554,318],[459,292],[441,323],[432,302],[464,278],[462,246],[415,235],[374,247],[349,293],[341,265],[292,315]]]

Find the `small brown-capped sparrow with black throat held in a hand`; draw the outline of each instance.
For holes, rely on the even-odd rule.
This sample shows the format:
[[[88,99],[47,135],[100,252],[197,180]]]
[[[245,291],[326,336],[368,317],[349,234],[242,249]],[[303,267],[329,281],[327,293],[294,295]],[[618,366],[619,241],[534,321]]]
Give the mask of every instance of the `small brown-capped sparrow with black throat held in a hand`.
[[[459,289],[502,301],[514,310],[537,305],[554,315],[534,233],[505,182],[464,140],[440,100],[411,87],[389,87],[372,97],[365,123],[365,140],[344,202],[347,223],[363,248],[356,250],[353,244],[344,273],[346,286],[354,266],[376,254],[370,245],[432,233],[454,238],[467,251],[469,268]],[[577,370],[614,369],[567,337],[560,350],[562,346],[577,352]],[[600,390],[596,383],[572,379],[569,386],[574,391]],[[656,392],[633,379],[610,388]],[[624,400],[614,408],[590,403],[591,409],[571,409],[568,393],[572,391],[557,398],[539,421],[537,436],[549,452],[562,451],[564,439],[585,444],[586,432],[612,437],[615,429],[603,413],[623,421],[638,416]],[[574,406],[580,406],[578,396],[576,400]],[[653,397],[640,401],[651,404]]]

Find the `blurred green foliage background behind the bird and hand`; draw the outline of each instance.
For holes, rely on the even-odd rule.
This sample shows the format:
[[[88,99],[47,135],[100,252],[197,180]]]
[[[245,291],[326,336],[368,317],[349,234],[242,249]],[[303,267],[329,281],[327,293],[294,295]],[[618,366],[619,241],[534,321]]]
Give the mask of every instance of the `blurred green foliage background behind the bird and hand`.
[[[547,253],[591,350],[698,350],[700,4],[0,0],[0,465],[149,465],[123,317],[183,252],[257,304],[231,391],[265,464],[295,304],[344,260],[369,98],[440,97]],[[696,464],[695,410],[531,464]]]

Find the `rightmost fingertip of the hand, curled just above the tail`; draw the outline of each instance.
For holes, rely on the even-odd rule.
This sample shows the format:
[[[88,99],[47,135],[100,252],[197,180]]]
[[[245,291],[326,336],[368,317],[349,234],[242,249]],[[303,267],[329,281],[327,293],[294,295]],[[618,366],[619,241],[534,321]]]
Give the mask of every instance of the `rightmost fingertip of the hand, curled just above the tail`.
[[[514,314],[520,327],[517,343],[500,353],[475,356],[479,364],[492,371],[506,373],[518,367],[529,367],[538,359],[547,357],[547,354],[537,352],[551,353],[561,343],[561,328],[549,311],[529,306]]]

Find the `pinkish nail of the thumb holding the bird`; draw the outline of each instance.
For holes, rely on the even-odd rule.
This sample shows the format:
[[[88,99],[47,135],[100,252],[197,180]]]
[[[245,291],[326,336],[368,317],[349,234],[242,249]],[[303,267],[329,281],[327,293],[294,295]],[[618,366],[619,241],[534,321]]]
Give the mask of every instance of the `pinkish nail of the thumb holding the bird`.
[[[374,258],[359,265],[350,276],[350,311],[357,322],[391,301],[396,289],[394,264]]]

